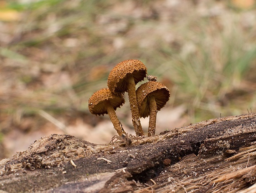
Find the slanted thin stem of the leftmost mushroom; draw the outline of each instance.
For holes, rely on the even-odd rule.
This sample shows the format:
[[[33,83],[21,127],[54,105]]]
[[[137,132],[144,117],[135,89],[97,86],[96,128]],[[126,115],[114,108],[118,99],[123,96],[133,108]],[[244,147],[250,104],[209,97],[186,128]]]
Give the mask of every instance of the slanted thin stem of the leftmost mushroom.
[[[113,123],[113,126],[114,126],[116,132],[118,133],[118,135],[121,136],[123,133],[126,134],[126,132],[121,128],[120,121],[116,116],[116,112],[108,100],[104,101],[104,106],[107,109],[109,118],[110,118],[111,122]]]

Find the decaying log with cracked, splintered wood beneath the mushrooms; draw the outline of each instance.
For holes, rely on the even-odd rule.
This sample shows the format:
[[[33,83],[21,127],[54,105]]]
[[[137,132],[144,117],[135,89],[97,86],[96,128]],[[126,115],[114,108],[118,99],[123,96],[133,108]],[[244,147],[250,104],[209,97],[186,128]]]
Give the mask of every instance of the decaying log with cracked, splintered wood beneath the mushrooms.
[[[256,192],[256,114],[120,140],[41,138],[0,161],[0,193]]]

